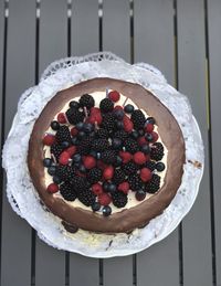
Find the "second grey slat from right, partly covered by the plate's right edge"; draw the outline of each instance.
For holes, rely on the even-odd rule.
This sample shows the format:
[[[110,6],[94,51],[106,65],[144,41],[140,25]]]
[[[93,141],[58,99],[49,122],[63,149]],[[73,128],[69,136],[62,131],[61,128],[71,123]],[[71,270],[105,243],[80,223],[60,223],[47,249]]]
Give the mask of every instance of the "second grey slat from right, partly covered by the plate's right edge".
[[[185,285],[212,285],[203,0],[177,1],[179,89],[201,128],[206,169],[199,197],[182,223]]]

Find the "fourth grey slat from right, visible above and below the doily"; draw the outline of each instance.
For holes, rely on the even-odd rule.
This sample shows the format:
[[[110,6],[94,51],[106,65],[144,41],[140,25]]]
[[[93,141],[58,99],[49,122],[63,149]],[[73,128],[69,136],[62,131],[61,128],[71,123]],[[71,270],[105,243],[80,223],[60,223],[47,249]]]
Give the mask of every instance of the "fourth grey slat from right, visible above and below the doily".
[[[103,49],[130,61],[129,1],[104,1]],[[133,285],[131,255],[104,259],[104,285]]]

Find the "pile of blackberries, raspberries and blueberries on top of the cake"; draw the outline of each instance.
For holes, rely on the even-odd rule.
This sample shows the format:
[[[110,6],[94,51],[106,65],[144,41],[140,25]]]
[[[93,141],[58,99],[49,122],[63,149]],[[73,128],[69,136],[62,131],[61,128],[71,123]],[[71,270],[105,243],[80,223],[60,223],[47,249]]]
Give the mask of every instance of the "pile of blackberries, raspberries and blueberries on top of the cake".
[[[51,150],[51,158],[43,159],[53,178],[48,191],[60,191],[67,201],[77,198],[104,216],[112,213],[110,203],[127,204],[129,190],[137,201],[157,192],[160,177],[156,171],[165,169],[155,119],[130,104],[115,105],[119,98],[112,91],[95,107],[90,94],[82,95],[51,123],[54,134],[43,138]]]

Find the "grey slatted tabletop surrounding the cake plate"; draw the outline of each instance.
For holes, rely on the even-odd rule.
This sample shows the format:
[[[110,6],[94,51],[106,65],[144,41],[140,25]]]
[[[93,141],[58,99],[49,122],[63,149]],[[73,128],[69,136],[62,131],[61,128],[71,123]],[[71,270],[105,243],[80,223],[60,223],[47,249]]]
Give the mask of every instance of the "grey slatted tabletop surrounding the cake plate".
[[[52,61],[106,50],[154,64],[188,95],[206,152],[200,192],[182,223],[137,255],[108,259],[40,241],[9,205],[1,170],[2,286],[221,285],[220,29],[220,0],[0,0],[1,146],[20,95]]]

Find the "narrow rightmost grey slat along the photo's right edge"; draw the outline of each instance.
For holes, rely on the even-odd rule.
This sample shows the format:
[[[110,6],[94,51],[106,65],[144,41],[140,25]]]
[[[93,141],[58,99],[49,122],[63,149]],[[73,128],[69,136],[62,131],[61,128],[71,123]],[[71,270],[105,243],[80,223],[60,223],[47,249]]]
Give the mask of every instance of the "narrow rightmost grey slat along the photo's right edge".
[[[213,155],[213,190],[215,215],[215,257],[217,257],[217,285],[221,285],[221,223],[220,223],[220,170],[221,170],[221,137],[220,137],[220,106],[221,106],[221,38],[218,31],[221,29],[221,2],[208,1],[208,28],[209,28],[209,71],[210,71],[210,100],[212,125],[212,155]]]

